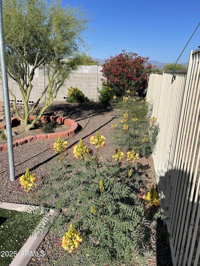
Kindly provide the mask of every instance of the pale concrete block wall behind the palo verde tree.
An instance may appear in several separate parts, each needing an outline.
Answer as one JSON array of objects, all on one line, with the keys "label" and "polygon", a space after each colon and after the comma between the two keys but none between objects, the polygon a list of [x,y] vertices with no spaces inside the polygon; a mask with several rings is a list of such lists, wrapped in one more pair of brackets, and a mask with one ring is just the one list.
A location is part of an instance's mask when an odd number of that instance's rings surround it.
[{"label": "pale concrete block wall behind the palo verde tree", "polygon": [[[57,97],[55,100],[57,101],[65,101],[68,96],[68,88],[71,86],[78,87],[78,89],[82,90],[85,96],[89,98],[92,102],[98,101],[98,91],[97,87],[101,89],[102,85],[102,66],[98,65],[82,65],[80,68],[70,75],[70,77],[64,82],[63,86],[59,89]],[[47,78],[44,75],[44,70],[37,70],[34,78],[32,80],[33,88],[31,90],[31,94],[29,97],[29,104],[35,103],[37,99],[40,97],[45,85],[47,85]],[[22,104],[22,95],[19,90],[17,82],[8,78],[8,87],[16,96],[17,104]],[[45,101],[47,97],[44,95],[41,99]],[[9,95],[10,102],[13,102],[13,98]],[[0,85],[0,101],[3,101],[3,91],[2,85]]]}]

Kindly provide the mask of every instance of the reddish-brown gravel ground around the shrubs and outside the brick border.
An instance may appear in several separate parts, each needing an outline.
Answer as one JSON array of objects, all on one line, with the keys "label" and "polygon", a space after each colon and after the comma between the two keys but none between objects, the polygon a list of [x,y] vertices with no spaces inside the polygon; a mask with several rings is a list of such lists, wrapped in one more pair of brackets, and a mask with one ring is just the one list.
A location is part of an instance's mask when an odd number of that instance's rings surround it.
[{"label": "reddish-brown gravel ground around the shrubs and outside the brick border", "polygon": [[[101,110],[99,112],[94,112],[97,110]],[[91,118],[91,114],[93,116]],[[98,130],[100,135],[105,136],[106,138],[106,149],[104,149],[103,157],[110,158],[115,152],[115,147],[110,145],[112,142],[111,136],[109,136],[109,131],[111,130],[111,125],[113,122],[116,122],[115,111],[108,110],[105,106],[100,105],[99,103],[84,103],[84,104],[69,104],[65,102],[54,102],[52,106],[47,109],[46,115],[58,115],[65,116],[75,120],[78,124],[80,131],[76,136],[69,138],[68,148],[72,148],[80,138],[83,139],[84,142],[89,141],[89,135],[96,133]],[[91,119],[90,119],[91,118]],[[87,125],[86,125],[87,124]],[[86,125],[86,127],[85,127]],[[84,128],[85,127],[85,128]],[[52,147],[55,139],[50,140],[38,140],[32,143],[26,143],[22,146],[17,146],[13,149],[14,152],[14,163],[15,165],[26,160],[33,155],[42,152],[43,150]],[[15,167],[15,175],[16,177],[22,175],[26,168],[28,167],[31,172],[34,172],[38,179],[43,179],[45,176],[48,176],[47,165],[53,163],[53,160],[58,157],[55,155],[52,149],[47,150],[46,152],[42,152],[41,154],[33,157],[27,162],[21,163],[19,166]],[[153,169],[153,161],[152,158],[142,158],[141,159],[142,166],[140,167],[139,172],[144,177],[145,184],[148,188],[151,185],[155,184],[155,173]],[[45,167],[46,166],[46,167]],[[0,169],[3,171],[4,169],[8,169],[8,151],[0,152]],[[0,171],[0,172],[1,172]],[[24,203],[28,204],[28,200],[24,199],[25,193],[19,186],[19,181],[10,181],[9,171],[5,171],[0,174],[0,201],[6,202],[15,202],[15,203]],[[40,186],[40,182],[38,182],[38,186]],[[36,203],[37,204],[37,203]],[[61,253],[52,254],[49,246],[56,245],[57,240],[54,241],[51,238],[50,233],[48,233],[45,240],[42,242],[38,251],[43,250],[45,252],[45,256],[35,257],[29,263],[31,266],[43,266],[43,265],[56,265],[53,260],[56,257],[62,255],[63,250],[61,249]],[[165,240],[156,241],[152,239],[153,245],[153,254],[149,254],[146,257],[147,265],[159,265],[159,266],[171,266],[170,260],[170,250]],[[140,265],[140,264],[135,264]],[[71,265],[68,265],[71,266]]]}]

